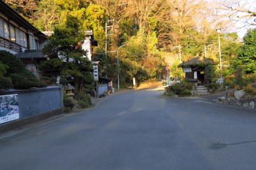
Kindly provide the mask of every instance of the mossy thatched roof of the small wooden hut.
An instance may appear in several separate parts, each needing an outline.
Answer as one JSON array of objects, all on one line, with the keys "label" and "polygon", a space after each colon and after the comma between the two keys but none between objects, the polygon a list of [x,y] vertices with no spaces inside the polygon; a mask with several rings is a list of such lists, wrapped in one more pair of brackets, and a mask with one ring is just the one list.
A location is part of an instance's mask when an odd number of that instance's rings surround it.
[{"label": "mossy thatched roof of the small wooden hut", "polygon": [[216,64],[212,59],[205,59],[203,57],[195,57],[193,59],[190,59],[186,62],[182,62],[181,64],[179,64],[178,67],[183,67],[183,66],[202,66],[202,67],[206,67],[209,65],[213,65]]}]

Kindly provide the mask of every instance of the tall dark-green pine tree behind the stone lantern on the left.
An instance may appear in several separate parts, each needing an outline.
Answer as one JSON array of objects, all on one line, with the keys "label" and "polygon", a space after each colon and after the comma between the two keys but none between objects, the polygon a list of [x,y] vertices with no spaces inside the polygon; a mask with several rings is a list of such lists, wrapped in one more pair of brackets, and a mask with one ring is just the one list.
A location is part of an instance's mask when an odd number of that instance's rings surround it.
[{"label": "tall dark-green pine tree behind the stone lantern on the left", "polygon": [[[60,69],[63,76],[72,75],[75,93],[79,90],[80,80],[93,81],[92,62],[83,57],[87,52],[79,45],[79,42],[83,44],[84,39],[81,22],[76,17],[67,15],[67,21],[54,27],[54,34],[48,38],[42,49],[43,53],[49,55],[50,60],[43,61],[41,68],[53,66]],[[58,57],[58,53],[61,53],[61,57]]]}]

